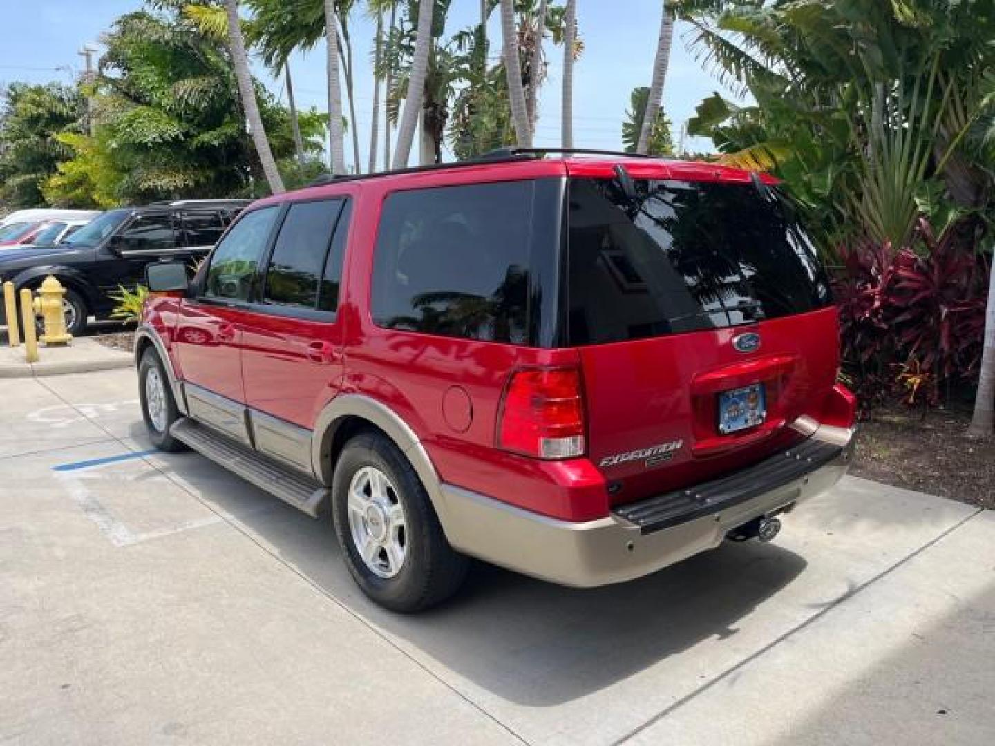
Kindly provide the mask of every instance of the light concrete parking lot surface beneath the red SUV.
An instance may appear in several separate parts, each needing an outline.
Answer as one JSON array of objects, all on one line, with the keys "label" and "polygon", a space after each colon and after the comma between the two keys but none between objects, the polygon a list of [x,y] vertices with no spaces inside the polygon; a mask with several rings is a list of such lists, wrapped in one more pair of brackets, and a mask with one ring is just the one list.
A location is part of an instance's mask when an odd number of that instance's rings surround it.
[{"label": "light concrete parking lot surface beneath the red SUV", "polygon": [[654,576],[414,617],[331,526],[152,452],[130,370],[0,389],[0,741],[990,744],[995,514],[857,478]]}]

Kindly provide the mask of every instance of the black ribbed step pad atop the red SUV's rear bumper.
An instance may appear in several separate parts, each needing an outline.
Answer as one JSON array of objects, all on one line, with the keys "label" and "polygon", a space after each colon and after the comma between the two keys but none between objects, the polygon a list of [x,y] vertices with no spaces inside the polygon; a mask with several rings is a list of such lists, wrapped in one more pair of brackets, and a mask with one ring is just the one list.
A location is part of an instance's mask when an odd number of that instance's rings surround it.
[{"label": "black ribbed step pad atop the red SUV's rear bumper", "polygon": [[809,439],[764,461],[693,487],[620,505],[612,512],[647,534],[724,510],[805,477],[843,456],[845,448]]}]

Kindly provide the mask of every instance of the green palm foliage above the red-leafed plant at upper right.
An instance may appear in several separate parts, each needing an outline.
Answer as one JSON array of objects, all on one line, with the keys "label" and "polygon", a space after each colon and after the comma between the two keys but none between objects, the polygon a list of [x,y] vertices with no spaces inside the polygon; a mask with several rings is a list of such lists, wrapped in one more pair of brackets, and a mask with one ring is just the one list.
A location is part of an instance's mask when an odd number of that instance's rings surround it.
[{"label": "green palm foliage above the red-leafed plant at upper right", "polygon": [[756,103],[717,94],[692,134],[782,176],[824,249],[908,241],[925,191],[991,206],[992,0],[687,0],[699,59]]}]

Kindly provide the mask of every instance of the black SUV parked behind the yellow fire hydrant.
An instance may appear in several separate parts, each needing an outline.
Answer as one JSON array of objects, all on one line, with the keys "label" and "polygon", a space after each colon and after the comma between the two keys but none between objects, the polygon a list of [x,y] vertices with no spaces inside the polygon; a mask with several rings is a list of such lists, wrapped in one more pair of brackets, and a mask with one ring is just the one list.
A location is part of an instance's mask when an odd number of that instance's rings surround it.
[{"label": "black SUV parked behind the yellow fire hydrant", "polygon": [[151,262],[199,261],[249,203],[178,200],[110,210],[58,246],[0,249],[0,282],[36,288],[54,275],[66,288],[66,327],[79,334],[90,316],[106,318],[113,309],[108,292],[134,289]]}]

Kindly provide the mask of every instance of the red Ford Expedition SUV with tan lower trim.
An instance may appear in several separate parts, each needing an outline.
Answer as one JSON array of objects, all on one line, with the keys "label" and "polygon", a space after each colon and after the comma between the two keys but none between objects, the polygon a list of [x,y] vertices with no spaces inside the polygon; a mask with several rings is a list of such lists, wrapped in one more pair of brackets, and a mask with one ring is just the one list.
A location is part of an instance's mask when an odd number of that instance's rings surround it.
[{"label": "red Ford Expedition SUV with tan lower trim", "polygon": [[829,282],[773,180],[557,151],[259,201],[150,265],[152,441],[311,516],[398,611],[471,557],[570,586],[769,539],[848,466]]}]

